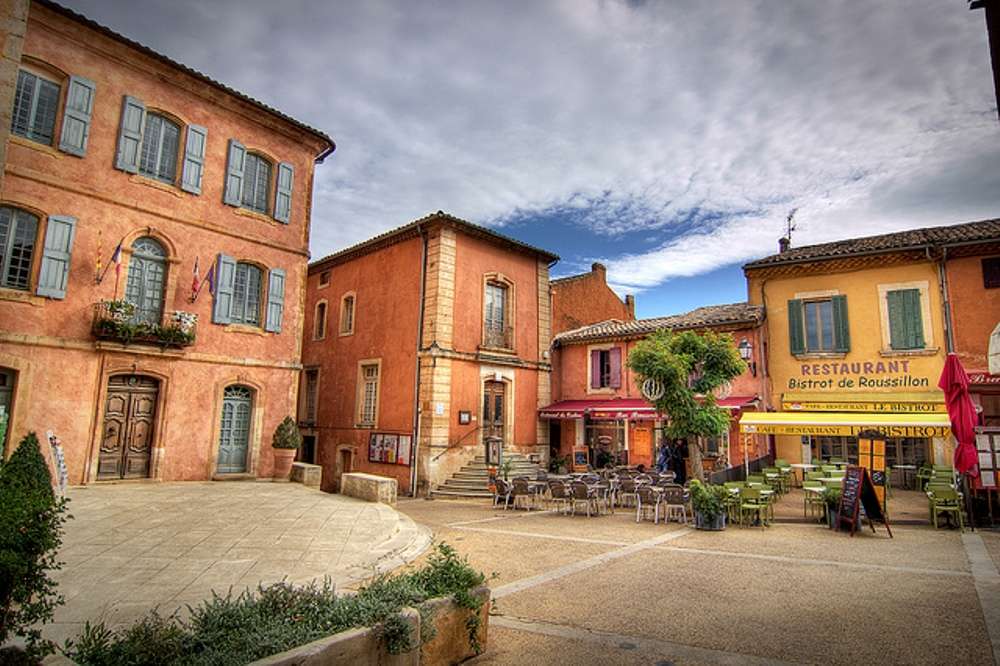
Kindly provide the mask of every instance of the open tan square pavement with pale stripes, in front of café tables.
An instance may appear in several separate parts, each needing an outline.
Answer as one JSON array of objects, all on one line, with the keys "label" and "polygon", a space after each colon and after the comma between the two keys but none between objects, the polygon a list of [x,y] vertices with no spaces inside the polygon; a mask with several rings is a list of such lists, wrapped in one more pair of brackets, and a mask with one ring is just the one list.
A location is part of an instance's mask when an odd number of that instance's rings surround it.
[{"label": "open tan square pavement with pale stripes, in front of caf\u00e9 tables", "polygon": [[489,646],[471,664],[995,663],[994,532],[398,508],[496,574]]}]

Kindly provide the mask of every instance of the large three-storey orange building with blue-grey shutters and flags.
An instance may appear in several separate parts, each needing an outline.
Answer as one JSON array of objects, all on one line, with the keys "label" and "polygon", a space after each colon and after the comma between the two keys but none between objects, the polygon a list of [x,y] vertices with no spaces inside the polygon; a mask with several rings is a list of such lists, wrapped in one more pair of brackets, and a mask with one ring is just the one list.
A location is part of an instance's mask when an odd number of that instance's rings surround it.
[{"label": "large three-storey orange building with blue-grey shutters and flags", "polygon": [[[58,5],[26,7],[0,67],[5,451],[51,430],[71,483],[270,475],[333,142]],[[192,302],[196,265],[213,279]]]}]

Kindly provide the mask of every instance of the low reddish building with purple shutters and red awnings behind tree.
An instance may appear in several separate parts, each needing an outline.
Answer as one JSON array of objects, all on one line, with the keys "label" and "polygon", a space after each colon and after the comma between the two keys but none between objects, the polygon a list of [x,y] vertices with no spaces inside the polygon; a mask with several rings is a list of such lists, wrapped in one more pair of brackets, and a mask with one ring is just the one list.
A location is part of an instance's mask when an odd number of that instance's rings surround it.
[{"label": "low reddish building with purple shutters and red awnings behind tree", "polygon": [[574,451],[586,452],[587,463],[594,467],[603,462],[598,460],[602,451],[630,465],[656,462],[663,418],[637,385],[627,360],[640,340],[661,329],[729,333],[749,356],[747,372],[717,396],[718,404],[732,414],[732,427],[718,440],[703,443],[706,467],[741,465],[744,451],[750,460],[766,455],[766,438],[743,442],[738,437],[740,414],[765,408],[763,319],[763,307],[734,303],[668,317],[604,321],[555,336],[553,385],[559,387],[558,399],[541,411],[551,424],[553,455],[573,460]]}]

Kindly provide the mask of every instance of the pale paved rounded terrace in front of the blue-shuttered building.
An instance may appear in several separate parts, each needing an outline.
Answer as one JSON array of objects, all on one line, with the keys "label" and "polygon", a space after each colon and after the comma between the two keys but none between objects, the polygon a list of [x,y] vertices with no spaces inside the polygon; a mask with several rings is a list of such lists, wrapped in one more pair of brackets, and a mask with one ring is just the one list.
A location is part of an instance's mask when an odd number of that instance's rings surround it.
[{"label": "pale paved rounded terrace in front of the blue-shuttered building", "polygon": [[123,483],[70,489],[57,573],[66,604],[45,633],[131,622],[258,583],[329,576],[352,587],[430,545],[391,507],[294,483]]}]

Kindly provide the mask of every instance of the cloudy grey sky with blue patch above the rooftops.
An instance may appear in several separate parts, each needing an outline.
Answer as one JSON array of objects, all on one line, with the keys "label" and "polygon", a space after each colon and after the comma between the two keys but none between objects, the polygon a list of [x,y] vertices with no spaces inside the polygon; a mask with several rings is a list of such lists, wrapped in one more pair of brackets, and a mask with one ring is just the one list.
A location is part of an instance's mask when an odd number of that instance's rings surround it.
[{"label": "cloudy grey sky with blue patch above the rooftops", "polygon": [[326,130],[318,257],[445,210],[608,266],[640,316],[804,245],[1000,216],[966,0],[64,0]]}]

